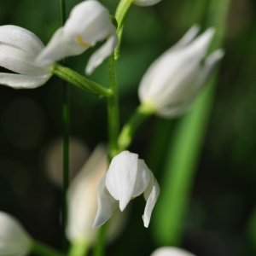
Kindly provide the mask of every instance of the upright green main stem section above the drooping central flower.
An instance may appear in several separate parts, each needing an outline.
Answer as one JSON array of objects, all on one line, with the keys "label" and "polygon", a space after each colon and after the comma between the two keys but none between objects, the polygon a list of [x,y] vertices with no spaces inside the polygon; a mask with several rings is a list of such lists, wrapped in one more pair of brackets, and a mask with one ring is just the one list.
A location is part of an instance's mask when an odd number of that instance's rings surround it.
[{"label": "upright green main stem section above the drooping central flower", "polygon": [[112,159],[117,154],[119,135],[119,95],[113,55],[109,57],[109,83],[113,94],[108,97],[108,156]]}]

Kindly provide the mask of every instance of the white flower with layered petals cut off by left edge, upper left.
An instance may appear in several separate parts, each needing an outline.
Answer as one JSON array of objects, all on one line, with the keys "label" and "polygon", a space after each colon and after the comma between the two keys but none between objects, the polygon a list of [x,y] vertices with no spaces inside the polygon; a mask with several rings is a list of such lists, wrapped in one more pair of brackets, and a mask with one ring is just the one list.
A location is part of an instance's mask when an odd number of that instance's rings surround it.
[{"label": "white flower with layered petals cut off by left edge, upper left", "polygon": [[0,73],[0,84],[15,89],[35,88],[51,76],[50,67],[36,63],[44,44],[20,26],[0,26],[0,66],[14,73]]}]

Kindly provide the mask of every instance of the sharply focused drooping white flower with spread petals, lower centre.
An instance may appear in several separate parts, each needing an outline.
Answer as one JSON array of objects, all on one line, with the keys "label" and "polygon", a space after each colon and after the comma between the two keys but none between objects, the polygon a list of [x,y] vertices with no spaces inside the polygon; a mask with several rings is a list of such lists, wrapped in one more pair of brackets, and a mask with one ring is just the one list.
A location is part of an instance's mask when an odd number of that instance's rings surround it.
[{"label": "sharply focused drooping white flower with spread petals, lower centre", "polygon": [[108,221],[117,207],[121,212],[132,198],[144,194],[147,201],[143,214],[144,226],[148,227],[155,202],[160,194],[159,184],[145,162],[137,154],[123,151],[116,155],[98,188],[98,209],[94,221],[97,228]]}]

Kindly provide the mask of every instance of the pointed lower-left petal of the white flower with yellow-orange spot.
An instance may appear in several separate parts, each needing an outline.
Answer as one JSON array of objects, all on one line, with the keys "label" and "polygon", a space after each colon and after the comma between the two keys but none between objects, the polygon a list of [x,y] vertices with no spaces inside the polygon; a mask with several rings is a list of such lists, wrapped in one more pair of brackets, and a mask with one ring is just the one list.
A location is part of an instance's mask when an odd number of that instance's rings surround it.
[{"label": "pointed lower-left petal of the white flower with yellow-orange spot", "polygon": [[37,62],[41,65],[50,65],[67,56],[80,55],[88,48],[89,47],[84,48],[77,44],[74,38],[68,38],[61,27],[55,32],[49,44],[47,44],[40,55],[38,55]]}]

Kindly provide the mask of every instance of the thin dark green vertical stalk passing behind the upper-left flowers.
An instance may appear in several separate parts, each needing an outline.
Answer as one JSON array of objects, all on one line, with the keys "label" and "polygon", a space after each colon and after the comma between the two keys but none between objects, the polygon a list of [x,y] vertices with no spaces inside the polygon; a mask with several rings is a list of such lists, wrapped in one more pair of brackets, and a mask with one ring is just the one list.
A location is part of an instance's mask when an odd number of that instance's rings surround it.
[{"label": "thin dark green vertical stalk passing behind the upper-left flowers", "polygon": [[[61,25],[66,22],[66,0],[61,0]],[[65,61],[63,61],[65,63]],[[62,230],[63,241],[66,246],[65,229],[67,225],[67,189],[69,183],[69,86],[63,81],[62,85],[62,124],[63,124],[63,149],[62,149]]]}]

